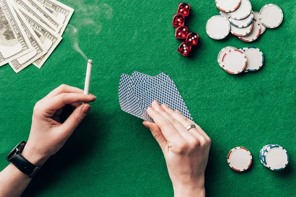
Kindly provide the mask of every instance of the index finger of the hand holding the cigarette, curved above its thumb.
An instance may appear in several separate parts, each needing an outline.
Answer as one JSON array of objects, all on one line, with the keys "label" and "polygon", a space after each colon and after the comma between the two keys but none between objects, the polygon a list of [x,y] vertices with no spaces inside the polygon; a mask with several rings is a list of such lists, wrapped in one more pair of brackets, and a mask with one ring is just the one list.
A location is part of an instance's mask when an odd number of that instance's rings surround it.
[{"label": "index finger of the hand holding the cigarette, curved above its thumb", "polygon": [[57,95],[48,101],[46,101],[45,108],[50,111],[56,111],[62,108],[66,104],[76,103],[76,102],[93,102],[96,97],[92,95],[84,95],[77,93],[62,93]]}]

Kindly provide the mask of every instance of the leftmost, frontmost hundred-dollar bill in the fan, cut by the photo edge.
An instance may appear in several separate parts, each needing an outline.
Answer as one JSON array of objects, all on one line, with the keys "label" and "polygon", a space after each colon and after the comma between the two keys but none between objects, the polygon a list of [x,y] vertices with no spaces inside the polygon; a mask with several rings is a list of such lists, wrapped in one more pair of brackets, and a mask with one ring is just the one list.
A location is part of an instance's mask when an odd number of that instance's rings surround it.
[{"label": "leftmost, frontmost hundred-dollar bill in the fan, cut by the photo edge", "polygon": [[0,66],[32,50],[10,1],[0,0]]}]

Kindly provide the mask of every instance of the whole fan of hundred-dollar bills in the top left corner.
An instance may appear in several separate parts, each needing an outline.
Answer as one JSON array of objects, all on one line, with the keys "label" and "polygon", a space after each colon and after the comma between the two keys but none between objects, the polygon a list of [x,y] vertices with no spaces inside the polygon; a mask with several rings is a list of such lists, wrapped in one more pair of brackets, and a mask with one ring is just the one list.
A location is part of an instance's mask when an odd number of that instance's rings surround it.
[{"label": "whole fan of hundred-dollar bills in the top left corner", "polygon": [[40,68],[62,40],[74,9],[57,0],[0,0],[0,66]]}]

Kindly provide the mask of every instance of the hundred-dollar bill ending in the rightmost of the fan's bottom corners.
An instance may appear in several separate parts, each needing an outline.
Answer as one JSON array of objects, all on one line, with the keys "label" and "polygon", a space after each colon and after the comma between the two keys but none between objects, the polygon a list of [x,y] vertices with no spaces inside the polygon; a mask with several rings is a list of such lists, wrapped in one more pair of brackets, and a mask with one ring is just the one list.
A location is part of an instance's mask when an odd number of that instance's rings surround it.
[{"label": "hundred-dollar bill ending in the rightmost of the fan's bottom corners", "polygon": [[62,40],[62,36],[52,31],[43,23],[40,23],[40,21],[36,17],[34,17],[23,8],[19,7],[19,9],[47,50],[47,53],[44,56],[40,57],[37,61],[33,63],[35,66],[40,68],[48,59],[53,50],[57,47],[57,45],[60,43],[60,41]]}]

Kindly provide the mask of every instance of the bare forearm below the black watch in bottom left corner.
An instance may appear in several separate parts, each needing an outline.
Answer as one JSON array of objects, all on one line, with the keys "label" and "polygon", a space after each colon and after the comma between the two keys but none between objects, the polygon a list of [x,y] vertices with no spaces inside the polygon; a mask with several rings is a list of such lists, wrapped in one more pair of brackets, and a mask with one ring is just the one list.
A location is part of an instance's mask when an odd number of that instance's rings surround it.
[{"label": "bare forearm below the black watch in bottom left corner", "polygon": [[9,164],[0,172],[0,197],[19,197],[30,182],[28,175]]}]

